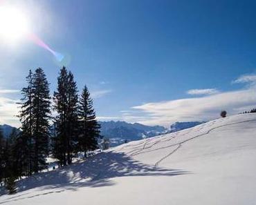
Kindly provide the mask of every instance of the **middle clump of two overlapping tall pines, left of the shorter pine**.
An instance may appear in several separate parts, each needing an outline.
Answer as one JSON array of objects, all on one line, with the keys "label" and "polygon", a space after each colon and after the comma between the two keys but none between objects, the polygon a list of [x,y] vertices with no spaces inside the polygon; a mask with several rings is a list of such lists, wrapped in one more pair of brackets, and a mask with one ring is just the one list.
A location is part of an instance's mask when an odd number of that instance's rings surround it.
[{"label": "middle clump of two overlapping tall pines, left of the shorter pine", "polygon": [[61,165],[71,164],[77,144],[77,86],[73,74],[65,67],[60,70],[57,79],[57,92],[54,92],[55,125],[57,134],[53,138],[53,154]]}]

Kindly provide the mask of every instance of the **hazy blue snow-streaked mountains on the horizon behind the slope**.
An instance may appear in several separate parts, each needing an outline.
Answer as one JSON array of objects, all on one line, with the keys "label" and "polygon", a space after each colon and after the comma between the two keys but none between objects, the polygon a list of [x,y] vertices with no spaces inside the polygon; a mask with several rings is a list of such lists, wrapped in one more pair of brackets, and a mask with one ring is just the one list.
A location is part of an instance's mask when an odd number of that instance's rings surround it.
[{"label": "hazy blue snow-streaked mountains on the horizon behind the slope", "polygon": [[[111,143],[110,146],[118,146],[128,141],[174,133],[179,130],[197,126],[204,123],[204,121],[177,121],[172,124],[170,128],[165,128],[163,126],[145,126],[138,123],[131,124],[125,121],[100,121],[99,123],[101,126],[101,135],[109,139]],[[6,124],[2,126],[0,125],[0,129],[3,131],[4,137],[8,137],[10,135],[12,128],[14,127]]]}]

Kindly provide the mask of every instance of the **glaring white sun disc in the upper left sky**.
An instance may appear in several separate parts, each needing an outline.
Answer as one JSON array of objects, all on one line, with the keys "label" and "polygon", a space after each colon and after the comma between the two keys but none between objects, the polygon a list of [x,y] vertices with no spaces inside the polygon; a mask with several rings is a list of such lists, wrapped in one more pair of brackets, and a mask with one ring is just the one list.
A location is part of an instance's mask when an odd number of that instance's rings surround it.
[{"label": "glaring white sun disc in the upper left sky", "polygon": [[0,37],[16,41],[28,35],[29,26],[26,14],[18,8],[0,6]]}]

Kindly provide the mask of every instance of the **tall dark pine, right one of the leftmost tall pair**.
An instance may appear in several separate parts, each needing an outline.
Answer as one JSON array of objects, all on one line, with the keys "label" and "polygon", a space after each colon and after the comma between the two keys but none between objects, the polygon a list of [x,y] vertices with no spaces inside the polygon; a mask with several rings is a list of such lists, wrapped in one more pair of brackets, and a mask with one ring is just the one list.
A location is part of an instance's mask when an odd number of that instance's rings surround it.
[{"label": "tall dark pine, right one of the leftmost tall pair", "polygon": [[33,171],[37,173],[46,167],[45,157],[48,155],[49,119],[51,118],[49,84],[42,68],[35,70],[32,92],[33,139],[35,143]]}]

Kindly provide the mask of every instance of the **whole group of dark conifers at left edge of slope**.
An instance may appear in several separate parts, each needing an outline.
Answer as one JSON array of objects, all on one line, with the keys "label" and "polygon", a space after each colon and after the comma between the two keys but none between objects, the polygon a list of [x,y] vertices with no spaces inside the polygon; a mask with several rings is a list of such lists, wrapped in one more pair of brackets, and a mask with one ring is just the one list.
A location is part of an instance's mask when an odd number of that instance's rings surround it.
[{"label": "whole group of dark conifers at left edge of slope", "polygon": [[[53,104],[42,68],[29,70],[26,84],[19,103],[21,127],[7,138],[0,130],[0,183],[10,194],[16,191],[15,180],[46,169],[49,155],[66,166],[77,153],[86,157],[88,151],[95,150],[100,137],[89,90],[84,86],[79,96],[71,71],[60,70]],[[57,114],[52,116],[51,110]]]}]

